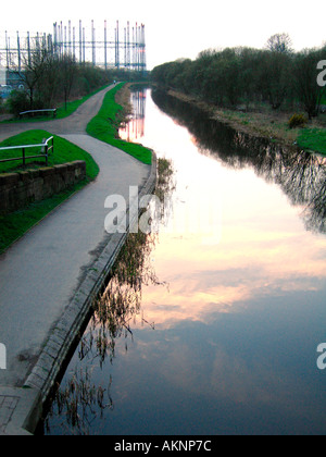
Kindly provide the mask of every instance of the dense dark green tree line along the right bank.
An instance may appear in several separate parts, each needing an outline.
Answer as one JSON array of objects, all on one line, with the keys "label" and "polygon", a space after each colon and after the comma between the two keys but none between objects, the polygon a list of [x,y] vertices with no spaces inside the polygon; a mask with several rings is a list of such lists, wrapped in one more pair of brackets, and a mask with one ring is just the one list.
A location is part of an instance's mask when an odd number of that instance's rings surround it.
[{"label": "dense dark green tree line along the right bank", "polygon": [[[165,88],[195,95],[221,107],[268,103],[273,110],[302,109],[312,119],[325,100],[317,84],[326,46],[294,52],[287,34],[272,36],[264,49],[226,48],[201,52],[153,69],[151,78]],[[326,100],[324,101],[326,103]]]}]

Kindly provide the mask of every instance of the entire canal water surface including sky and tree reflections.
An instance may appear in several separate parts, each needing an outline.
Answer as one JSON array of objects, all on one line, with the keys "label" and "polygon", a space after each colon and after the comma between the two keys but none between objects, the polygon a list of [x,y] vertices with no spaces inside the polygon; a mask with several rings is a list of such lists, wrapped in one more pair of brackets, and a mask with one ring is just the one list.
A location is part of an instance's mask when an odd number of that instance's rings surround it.
[{"label": "entire canal water surface including sky and tree reflections", "polygon": [[137,281],[112,280],[43,432],[325,434],[325,160],[131,100],[121,136],[174,171],[160,233],[127,247]]}]

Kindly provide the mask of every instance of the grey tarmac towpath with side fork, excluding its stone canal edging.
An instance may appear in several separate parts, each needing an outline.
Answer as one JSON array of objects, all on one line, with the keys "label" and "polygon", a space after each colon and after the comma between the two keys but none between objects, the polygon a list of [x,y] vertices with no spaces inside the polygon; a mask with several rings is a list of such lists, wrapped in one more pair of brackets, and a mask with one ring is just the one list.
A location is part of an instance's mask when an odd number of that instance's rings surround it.
[{"label": "grey tarmac towpath with side fork, excluding its stone canal edging", "polygon": [[[128,201],[129,186],[141,187],[149,178],[150,166],[85,134],[104,94],[64,122],[33,123],[33,128],[46,128],[90,152],[100,174],[0,256],[0,343],[7,348],[0,387],[24,385],[55,322],[108,242],[105,198],[117,194]],[[23,126],[30,128],[29,124],[12,127],[17,132]],[[0,125],[0,139],[12,134],[13,129],[10,134],[7,125]],[[0,388],[0,433],[7,427],[1,417],[9,420],[16,398],[3,394],[1,399]],[[7,405],[2,416],[1,405]]]}]

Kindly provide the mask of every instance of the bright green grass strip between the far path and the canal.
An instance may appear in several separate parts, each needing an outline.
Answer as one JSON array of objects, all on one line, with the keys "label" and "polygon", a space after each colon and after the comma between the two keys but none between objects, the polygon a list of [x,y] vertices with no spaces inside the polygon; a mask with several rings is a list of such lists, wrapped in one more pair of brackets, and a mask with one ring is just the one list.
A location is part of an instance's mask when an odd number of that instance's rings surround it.
[{"label": "bright green grass strip between the far path and the canal", "polygon": [[89,122],[87,133],[101,141],[122,149],[140,162],[151,164],[152,153],[149,149],[138,144],[124,141],[117,137],[117,129],[124,119],[124,108],[116,102],[115,96],[123,86],[123,84],[118,84],[106,94],[98,115]]}]

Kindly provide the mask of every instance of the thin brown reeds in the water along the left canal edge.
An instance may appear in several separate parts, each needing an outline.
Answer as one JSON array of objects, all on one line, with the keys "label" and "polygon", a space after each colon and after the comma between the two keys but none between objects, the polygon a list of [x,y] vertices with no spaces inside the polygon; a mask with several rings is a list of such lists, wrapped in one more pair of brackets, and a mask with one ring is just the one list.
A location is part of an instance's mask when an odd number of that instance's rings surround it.
[{"label": "thin brown reeds in the water along the left canal edge", "polygon": [[[173,180],[171,164],[166,161],[163,163],[163,169],[159,168],[158,195],[162,189],[173,192],[170,184]],[[154,323],[143,317],[141,293],[143,286],[166,285],[159,281],[151,261],[156,240],[154,233],[139,231],[128,235],[105,289],[93,301],[90,322],[76,351],[79,368],[67,373],[63,385],[58,386],[54,393],[45,421],[48,433],[51,432],[51,417],[55,416],[60,418],[59,427],[64,434],[89,434],[96,427],[97,418],[102,418],[105,409],[114,409],[112,376],[106,381],[106,386],[98,385],[92,381],[92,371],[98,365],[102,370],[106,361],[113,362],[117,338],[124,338],[125,350],[128,349],[128,338],[133,339],[131,322],[136,323],[137,318],[141,325],[154,330]]]}]

